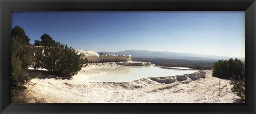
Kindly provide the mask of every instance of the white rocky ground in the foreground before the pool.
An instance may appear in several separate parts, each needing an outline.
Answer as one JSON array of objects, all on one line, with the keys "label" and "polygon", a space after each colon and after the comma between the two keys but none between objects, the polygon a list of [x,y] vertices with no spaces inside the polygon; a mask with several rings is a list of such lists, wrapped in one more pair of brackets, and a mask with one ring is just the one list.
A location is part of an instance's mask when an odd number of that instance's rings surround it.
[{"label": "white rocky ground in the foreground before the pool", "polygon": [[[91,64],[88,68],[94,66]],[[47,103],[232,103],[238,99],[230,90],[229,80],[212,77],[210,70],[205,72],[205,78],[190,83],[168,84],[151,78],[123,83],[81,82],[79,73],[70,80],[34,78],[26,84],[26,94]]]}]

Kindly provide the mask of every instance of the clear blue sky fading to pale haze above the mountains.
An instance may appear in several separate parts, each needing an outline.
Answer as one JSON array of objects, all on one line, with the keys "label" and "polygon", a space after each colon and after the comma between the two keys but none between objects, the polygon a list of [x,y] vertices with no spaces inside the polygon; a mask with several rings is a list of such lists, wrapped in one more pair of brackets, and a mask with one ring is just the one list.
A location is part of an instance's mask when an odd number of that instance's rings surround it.
[{"label": "clear blue sky fading to pale haze above the mountains", "polygon": [[245,13],[192,11],[12,12],[34,40],[47,33],[75,49],[151,50],[244,57]]}]

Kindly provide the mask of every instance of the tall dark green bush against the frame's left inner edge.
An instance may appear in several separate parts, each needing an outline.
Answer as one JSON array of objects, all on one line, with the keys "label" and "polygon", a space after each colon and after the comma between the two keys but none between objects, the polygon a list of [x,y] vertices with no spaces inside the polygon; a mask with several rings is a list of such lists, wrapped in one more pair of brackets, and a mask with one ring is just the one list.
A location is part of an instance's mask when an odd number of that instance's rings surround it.
[{"label": "tall dark green bush against the frame's left inner edge", "polygon": [[12,29],[11,36],[11,86],[18,87],[30,79],[25,72],[33,63],[34,49],[25,31],[19,26]]}]

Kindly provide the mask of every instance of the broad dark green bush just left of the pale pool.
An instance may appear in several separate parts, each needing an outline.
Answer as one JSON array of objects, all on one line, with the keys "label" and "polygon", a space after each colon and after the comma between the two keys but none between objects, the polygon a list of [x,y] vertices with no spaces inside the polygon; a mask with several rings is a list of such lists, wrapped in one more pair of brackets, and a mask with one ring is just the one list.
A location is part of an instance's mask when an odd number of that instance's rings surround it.
[{"label": "broad dark green bush just left of the pale pool", "polygon": [[86,59],[67,45],[54,42],[50,46],[37,47],[34,68],[45,68],[51,74],[70,78],[86,66]]}]

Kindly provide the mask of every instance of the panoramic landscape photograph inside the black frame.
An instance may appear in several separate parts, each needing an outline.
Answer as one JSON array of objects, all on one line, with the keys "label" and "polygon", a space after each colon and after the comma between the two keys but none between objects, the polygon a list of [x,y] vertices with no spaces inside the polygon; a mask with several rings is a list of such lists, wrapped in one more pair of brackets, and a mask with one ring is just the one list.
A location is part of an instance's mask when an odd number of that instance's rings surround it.
[{"label": "panoramic landscape photograph inside the black frame", "polygon": [[245,11],[12,11],[11,103],[246,103]]}]

